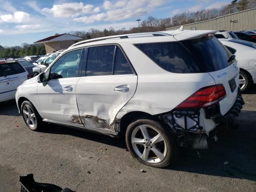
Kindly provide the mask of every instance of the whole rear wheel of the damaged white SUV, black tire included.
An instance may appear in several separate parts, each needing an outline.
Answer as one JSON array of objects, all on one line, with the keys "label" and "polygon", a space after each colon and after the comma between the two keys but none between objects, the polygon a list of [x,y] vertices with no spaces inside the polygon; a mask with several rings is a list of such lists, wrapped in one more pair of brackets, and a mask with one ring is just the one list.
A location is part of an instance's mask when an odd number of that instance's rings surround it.
[{"label": "whole rear wheel of the damaged white SUV, black tire included", "polygon": [[[142,130],[147,133],[143,134]],[[172,133],[160,122],[150,118],[142,117],[129,124],[126,145],[134,159],[156,168],[174,164],[178,156],[178,145]]]}]

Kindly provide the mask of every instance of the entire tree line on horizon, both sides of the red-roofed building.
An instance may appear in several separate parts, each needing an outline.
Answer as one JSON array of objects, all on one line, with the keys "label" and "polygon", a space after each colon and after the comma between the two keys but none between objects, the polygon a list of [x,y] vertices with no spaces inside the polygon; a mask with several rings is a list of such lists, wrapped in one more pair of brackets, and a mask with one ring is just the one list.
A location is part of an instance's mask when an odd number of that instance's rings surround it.
[{"label": "entire tree line on horizon, both sides of the red-roofed building", "polygon": [[[181,14],[176,14],[172,17],[167,18],[155,18],[148,17],[147,20],[142,20],[140,22],[139,27],[132,27],[130,29],[122,28],[119,30],[115,30],[110,27],[108,30],[98,30],[95,28],[91,28],[87,32],[82,31],[71,31],[68,34],[81,37],[83,40],[104,37],[104,36],[112,36],[112,35],[120,35],[120,34],[129,34],[129,33],[137,33],[137,32],[155,32],[155,31],[164,31],[166,28],[175,27],[185,24],[190,24],[194,22],[205,21],[209,19],[213,19],[219,16],[223,16],[226,14],[231,14],[235,12],[239,12],[242,10],[247,10],[250,8],[256,7],[256,0],[232,0],[230,4],[226,6],[222,6],[221,8],[213,8],[213,9],[204,9],[199,10],[197,12],[183,12]],[[222,29],[220,29],[222,30]],[[11,46],[11,47],[2,47],[0,46],[0,58],[19,58],[28,55],[40,55],[46,54],[45,48],[43,44],[22,44],[21,46]]]}]

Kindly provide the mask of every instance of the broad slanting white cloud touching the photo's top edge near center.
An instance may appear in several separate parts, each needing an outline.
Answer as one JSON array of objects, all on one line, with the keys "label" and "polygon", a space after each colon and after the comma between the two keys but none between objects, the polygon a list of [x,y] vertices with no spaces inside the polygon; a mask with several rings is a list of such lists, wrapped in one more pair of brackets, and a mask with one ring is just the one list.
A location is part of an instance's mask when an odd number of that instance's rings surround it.
[{"label": "broad slanting white cloud touching the photo's top edge near center", "polygon": [[105,1],[102,6],[106,12],[74,18],[73,20],[75,22],[84,22],[87,24],[96,21],[125,20],[145,15],[157,6],[161,6],[163,3],[163,0],[121,0],[113,5],[110,1]]}]

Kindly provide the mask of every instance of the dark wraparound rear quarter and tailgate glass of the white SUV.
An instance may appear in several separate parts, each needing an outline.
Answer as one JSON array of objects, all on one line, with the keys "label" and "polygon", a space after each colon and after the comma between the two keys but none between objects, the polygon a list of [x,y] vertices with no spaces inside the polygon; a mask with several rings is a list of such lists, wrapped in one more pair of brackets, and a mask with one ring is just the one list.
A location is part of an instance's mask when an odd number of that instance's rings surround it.
[{"label": "dark wraparound rear quarter and tailgate glass of the white SUV", "polygon": [[226,68],[232,54],[214,36],[136,44],[156,64],[173,73],[204,73]]}]

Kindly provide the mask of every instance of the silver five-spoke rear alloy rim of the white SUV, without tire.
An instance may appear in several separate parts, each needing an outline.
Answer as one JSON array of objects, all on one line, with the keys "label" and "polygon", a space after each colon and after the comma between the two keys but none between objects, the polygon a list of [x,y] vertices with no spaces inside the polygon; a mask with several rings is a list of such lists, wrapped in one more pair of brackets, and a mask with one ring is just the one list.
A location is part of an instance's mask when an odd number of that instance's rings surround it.
[{"label": "silver five-spoke rear alloy rim of the white SUV, without tire", "polygon": [[152,126],[137,126],[132,131],[131,142],[136,155],[148,163],[159,163],[166,157],[166,141]]}]

